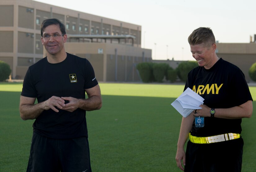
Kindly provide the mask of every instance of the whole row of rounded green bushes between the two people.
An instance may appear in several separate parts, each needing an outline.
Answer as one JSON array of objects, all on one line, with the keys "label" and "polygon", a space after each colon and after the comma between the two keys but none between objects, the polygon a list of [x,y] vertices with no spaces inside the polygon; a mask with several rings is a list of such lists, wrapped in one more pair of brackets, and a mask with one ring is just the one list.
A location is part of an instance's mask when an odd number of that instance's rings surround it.
[{"label": "whole row of rounded green bushes between the two people", "polygon": [[197,66],[196,61],[182,62],[176,69],[166,63],[145,62],[137,64],[136,68],[140,73],[142,82],[163,82],[164,77],[170,82],[175,82],[177,76],[181,81],[186,82],[187,74]]}]

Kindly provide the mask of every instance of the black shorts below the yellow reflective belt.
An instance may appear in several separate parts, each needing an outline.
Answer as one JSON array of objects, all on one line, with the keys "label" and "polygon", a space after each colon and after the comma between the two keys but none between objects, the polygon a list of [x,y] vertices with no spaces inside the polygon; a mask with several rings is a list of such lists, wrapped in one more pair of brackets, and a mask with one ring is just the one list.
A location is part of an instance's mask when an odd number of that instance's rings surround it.
[{"label": "black shorts below the yellow reflective belt", "polygon": [[240,172],[243,146],[242,138],[208,144],[188,141],[185,172]]}]

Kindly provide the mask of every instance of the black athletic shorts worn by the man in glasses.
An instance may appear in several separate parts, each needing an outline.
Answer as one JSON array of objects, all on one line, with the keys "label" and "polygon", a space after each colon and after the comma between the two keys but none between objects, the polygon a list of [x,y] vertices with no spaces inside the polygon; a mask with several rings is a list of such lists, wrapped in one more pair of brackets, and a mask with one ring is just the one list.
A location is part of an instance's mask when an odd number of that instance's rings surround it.
[{"label": "black athletic shorts worn by the man in glasses", "polygon": [[87,137],[51,139],[33,133],[27,172],[91,172]]}]

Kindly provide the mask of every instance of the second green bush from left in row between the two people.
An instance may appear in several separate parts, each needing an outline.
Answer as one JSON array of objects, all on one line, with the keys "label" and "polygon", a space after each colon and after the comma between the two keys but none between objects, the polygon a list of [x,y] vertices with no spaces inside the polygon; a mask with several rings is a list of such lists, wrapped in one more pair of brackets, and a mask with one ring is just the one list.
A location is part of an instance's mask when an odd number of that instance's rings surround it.
[{"label": "second green bush from left in row between the two people", "polygon": [[163,82],[164,76],[167,76],[169,65],[166,63],[155,63],[153,65],[153,75],[157,82]]}]

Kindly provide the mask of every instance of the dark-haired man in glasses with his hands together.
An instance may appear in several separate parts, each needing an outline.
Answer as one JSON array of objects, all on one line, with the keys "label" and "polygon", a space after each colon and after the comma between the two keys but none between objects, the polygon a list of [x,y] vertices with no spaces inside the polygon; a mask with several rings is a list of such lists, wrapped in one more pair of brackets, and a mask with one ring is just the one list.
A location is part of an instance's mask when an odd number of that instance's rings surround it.
[{"label": "dark-haired man in glasses with his hands together", "polygon": [[29,67],[20,96],[20,117],[35,119],[27,171],[92,171],[86,111],[102,104],[94,70],[65,52],[59,20],[44,20],[41,36],[47,57]]}]

